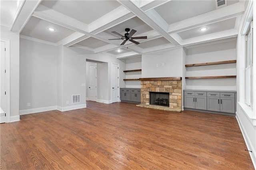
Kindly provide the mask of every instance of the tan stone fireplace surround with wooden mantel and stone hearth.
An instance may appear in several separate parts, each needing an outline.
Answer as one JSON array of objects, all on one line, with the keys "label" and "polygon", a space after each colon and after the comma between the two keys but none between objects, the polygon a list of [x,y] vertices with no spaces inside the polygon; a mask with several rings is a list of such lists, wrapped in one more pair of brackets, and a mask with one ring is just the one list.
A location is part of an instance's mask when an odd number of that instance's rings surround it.
[{"label": "tan stone fireplace surround with wooden mantel and stone hearth", "polygon": [[[139,107],[166,111],[182,111],[182,77],[140,78],[141,104]],[[150,105],[150,92],[170,94],[169,107]]]}]

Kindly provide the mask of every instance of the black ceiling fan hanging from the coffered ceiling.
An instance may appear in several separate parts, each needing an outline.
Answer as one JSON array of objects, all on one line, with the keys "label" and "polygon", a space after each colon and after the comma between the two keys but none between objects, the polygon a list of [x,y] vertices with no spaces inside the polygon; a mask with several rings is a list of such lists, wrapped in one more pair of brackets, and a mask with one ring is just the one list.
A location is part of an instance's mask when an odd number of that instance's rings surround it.
[{"label": "black ceiling fan hanging from the coffered ceiling", "polygon": [[135,44],[139,44],[139,42],[134,41],[134,39],[147,39],[147,36],[142,36],[142,37],[132,37],[133,34],[135,34],[137,31],[136,30],[132,30],[130,33],[128,33],[130,31],[130,28],[126,28],[125,31],[127,33],[124,34],[124,36],[122,34],[119,34],[118,32],[112,31],[112,33],[121,36],[122,38],[114,38],[114,39],[108,39],[108,40],[124,40],[121,45],[124,45],[127,41],[133,42]]}]

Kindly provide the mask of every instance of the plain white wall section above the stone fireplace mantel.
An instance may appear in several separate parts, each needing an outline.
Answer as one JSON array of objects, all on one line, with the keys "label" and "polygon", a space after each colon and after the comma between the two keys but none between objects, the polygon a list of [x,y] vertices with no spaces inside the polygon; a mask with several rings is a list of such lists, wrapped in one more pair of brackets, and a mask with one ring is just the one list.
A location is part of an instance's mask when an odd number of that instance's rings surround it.
[{"label": "plain white wall section above the stone fireplace mantel", "polygon": [[143,54],[142,78],[147,77],[182,77],[182,47]]}]

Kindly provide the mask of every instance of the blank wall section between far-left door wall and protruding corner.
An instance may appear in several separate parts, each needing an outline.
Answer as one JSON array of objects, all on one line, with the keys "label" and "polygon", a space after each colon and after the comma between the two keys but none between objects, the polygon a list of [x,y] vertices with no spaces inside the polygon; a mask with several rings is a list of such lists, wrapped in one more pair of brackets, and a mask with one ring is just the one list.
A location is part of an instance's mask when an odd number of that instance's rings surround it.
[{"label": "blank wall section between far-left door wall and protruding corner", "polygon": [[56,106],[57,59],[57,46],[20,38],[20,110]]}]

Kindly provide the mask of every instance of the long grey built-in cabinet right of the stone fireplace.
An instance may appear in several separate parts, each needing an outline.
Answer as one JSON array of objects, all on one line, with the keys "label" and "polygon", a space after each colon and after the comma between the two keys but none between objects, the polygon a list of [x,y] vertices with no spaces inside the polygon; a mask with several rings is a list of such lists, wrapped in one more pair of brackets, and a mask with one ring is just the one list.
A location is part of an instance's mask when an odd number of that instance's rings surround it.
[{"label": "long grey built-in cabinet right of the stone fireplace", "polygon": [[236,91],[184,90],[184,109],[235,113]]}]

